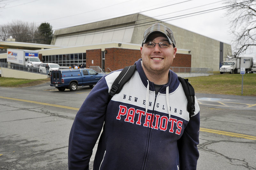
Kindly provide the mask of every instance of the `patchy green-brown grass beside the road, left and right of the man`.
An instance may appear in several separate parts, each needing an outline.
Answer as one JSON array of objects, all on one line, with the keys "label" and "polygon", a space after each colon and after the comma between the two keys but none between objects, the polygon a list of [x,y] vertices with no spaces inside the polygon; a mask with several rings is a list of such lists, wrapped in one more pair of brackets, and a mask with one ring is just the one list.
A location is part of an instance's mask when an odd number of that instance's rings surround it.
[{"label": "patchy green-brown grass beside the road, left and right of the man", "polygon": [[[241,95],[242,74],[220,74],[189,77],[188,81],[193,85],[196,93]],[[2,87],[27,87],[50,82],[48,79],[27,80],[0,77]],[[243,96],[256,97],[256,74],[244,74]]]}]

